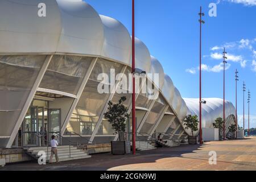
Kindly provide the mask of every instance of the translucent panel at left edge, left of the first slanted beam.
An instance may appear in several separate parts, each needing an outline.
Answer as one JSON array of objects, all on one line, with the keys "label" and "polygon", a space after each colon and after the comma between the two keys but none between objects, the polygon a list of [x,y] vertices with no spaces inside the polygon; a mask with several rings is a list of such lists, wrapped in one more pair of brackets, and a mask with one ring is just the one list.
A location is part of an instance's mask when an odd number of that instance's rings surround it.
[{"label": "translucent panel at left edge, left of the first slanted beam", "polygon": [[9,136],[46,55],[0,56],[0,136]]}]

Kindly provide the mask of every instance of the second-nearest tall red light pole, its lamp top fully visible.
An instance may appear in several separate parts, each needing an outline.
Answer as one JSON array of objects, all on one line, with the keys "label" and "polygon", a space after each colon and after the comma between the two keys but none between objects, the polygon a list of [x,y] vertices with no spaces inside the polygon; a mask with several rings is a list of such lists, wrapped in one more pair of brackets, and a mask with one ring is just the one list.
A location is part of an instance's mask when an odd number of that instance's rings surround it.
[{"label": "second-nearest tall red light pole, its lamp top fully visible", "polygon": [[201,93],[201,35],[202,35],[202,23],[205,23],[204,20],[202,20],[202,16],[204,16],[204,13],[202,13],[202,7],[200,6],[200,59],[199,59],[199,130],[200,130],[200,144],[203,143],[202,138],[202,93]]}]

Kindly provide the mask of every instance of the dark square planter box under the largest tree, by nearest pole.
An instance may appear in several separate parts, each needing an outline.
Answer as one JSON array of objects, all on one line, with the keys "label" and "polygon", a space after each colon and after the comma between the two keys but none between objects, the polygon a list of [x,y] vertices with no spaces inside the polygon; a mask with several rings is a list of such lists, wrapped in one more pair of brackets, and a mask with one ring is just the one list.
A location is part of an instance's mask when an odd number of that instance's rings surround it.
[{"label": "dark square planter box under the largest tree, by nearest pole", "polygon": [[111,153],[115,155],[130,154],[130,141],[112,141]]}]

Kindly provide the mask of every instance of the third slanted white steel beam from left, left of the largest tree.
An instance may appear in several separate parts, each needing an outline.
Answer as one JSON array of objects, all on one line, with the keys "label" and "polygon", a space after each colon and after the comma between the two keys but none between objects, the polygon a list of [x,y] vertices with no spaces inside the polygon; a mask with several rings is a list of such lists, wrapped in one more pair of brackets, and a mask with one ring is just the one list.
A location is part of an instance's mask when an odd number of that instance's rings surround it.
[{"label": "third slanted white steel beam from left, left of the largest tree", "polygon": [[110,90],[110,95],[109,95],[109,98],[108,100],[106,101],[106,104],[105,106],[103,107],[102,111],[101,111],[101,114],[100,114],[100,117],[98,118],[98,121],[97,121],[97,124],[93,130],[93,133],[90,137],[90,140],[89,140],[89,143],[92,143],[92,141],[94,140],[96,134],[98,133],[98,129],[100,128],[100,125],[101,125],[101,122],[102,122],[102,119],[104,118],[104,113],[106,112],[106,110],[108,109],[108,102],[112,100],[112,98],[114,97],[114,94],[115,94],[115,91],[117,90],[117,86],[119,85],[120,81],[121,81],[121,78],[123,76],[123,74],[125,73],[125,69],[127,68],[126,65],[123,66],[122,70],[121,70],[121,74],[119,75],[119,77],[117,78],[117,82],[115,83],[114,87],[113,87],[113,90]]}]

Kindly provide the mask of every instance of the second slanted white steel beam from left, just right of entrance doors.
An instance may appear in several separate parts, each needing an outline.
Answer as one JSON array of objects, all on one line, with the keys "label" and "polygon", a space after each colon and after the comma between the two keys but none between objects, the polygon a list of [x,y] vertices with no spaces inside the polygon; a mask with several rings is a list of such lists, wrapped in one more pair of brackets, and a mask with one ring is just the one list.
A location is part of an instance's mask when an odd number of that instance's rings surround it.
[{"label": "second slanted white steel beam from left, just right of entrance doors", "polygon": [[97,60],[98,60],[98,57],[94,58],[92,60],[92,63],[90,63],[90,65],[89,65],[88,71],[86,72],[86,74],[84,76],[84,79],[81,82],[80,88],[79,88],[79,90],[78,90],[78,92],[76,94],[76,98],[73,101],[73,104],[71,105],[71,108],[68,111],[67,117],[65,118],[65,121],[64,121],[63,125],[61,126],[61,135],[63,135],[64,132],[65,132],[65,129],[66,129],[67,125],[68,125],[68,122],[69,122],[69,120],[72,117],[73,110],[75,110],[75,108],[76,108],[76,106],[77,106],[77,104],[79,102],[79,99],[80,99],[80,97],[82,95],[82,92],[84,91],[85,85],[87,84],[87,82],[89,80],[90,74],[92,73],[93,68],[94,68]]}]

